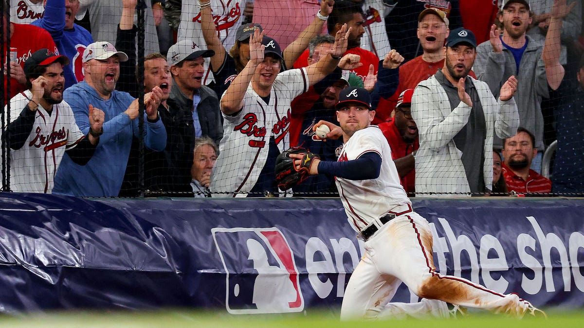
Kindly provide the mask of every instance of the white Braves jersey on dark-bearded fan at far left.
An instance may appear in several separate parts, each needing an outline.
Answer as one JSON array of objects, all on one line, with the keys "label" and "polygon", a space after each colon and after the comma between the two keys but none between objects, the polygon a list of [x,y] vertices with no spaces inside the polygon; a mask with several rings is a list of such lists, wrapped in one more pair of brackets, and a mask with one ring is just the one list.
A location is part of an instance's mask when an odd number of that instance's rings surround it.
[{"label": "white Braves jersey on dark-bearded fan at far left", "polygon": [[[10,120],[15,121],[29,103],[32,93],[21,92],[10,101]],[[33,130],[25,144],[11,149],[10,179],[12,191],[51,193],[55,172],[65,150],[74,148],[85,135],[75,123],[71,107],[65,101],[53,105],[51,115],[39,106]]]}]

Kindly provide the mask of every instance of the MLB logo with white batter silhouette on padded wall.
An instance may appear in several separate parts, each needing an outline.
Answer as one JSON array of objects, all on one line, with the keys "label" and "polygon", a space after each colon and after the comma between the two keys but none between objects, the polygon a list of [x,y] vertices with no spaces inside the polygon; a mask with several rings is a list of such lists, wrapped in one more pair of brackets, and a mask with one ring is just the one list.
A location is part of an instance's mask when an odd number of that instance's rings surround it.
[{"label": "MLB logo with white batter silhouette on padded wall", "polygon": [[231,314],[304,310],[294,253],[277,228],[213,228]]}]

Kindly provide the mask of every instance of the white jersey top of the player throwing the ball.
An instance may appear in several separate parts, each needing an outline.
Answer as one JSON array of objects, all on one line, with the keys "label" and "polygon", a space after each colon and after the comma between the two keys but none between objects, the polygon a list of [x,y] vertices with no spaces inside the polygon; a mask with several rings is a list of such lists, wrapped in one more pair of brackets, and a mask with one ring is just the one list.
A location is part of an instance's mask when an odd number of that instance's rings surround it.
[{"label": "white jersey top of the player throwing the ball", "polygon": [[374,219],[382,217],[395,205],[411,204],[399,182],[390,145],[377,125],[355,132],[343,145],[338,161],[357,159],[367,152],[376,152],[381,156],[379,177],[370,180],[336,178],[340,200],[351,226],[357,232]]}]

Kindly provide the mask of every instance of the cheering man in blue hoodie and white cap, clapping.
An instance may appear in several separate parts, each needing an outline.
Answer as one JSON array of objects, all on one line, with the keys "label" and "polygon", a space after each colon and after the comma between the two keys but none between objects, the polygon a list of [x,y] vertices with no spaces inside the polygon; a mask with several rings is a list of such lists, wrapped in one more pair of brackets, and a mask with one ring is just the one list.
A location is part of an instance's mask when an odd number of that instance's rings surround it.
[{"label": "cheering man in blue hoodie and white cap, clapping", "polygon": [[[115,90],[120,77],[120,61],[128,56],[108,42],[95,42],[86,48],[83,63],[85,80],[65,90],[82,132],[89,131],[88,113],[96,107],[105,113],[103,135],[93,158],[85,166],[65,155],[55,176],[53,193],[70,196],[116,197],[126,171],[132,135],[138,134],[138,100]],[[144,95],[144,144],[154,151],[166,146],[166,130],[158,117],[162,90],[156,86]]]}]

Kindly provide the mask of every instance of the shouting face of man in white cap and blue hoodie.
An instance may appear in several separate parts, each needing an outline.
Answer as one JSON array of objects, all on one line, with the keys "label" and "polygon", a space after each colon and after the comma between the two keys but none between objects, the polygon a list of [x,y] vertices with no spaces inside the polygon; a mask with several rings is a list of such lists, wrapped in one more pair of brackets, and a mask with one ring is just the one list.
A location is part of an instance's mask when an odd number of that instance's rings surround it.
[{"label": "shouting face of man in white cap and blue hoodie", "polygon": [[84,65],[93,87],[102,95],[109,96],[116,89],[120,78],[120,58],[114,55],[105,60],[92,59]]}]

